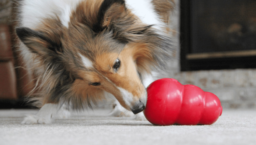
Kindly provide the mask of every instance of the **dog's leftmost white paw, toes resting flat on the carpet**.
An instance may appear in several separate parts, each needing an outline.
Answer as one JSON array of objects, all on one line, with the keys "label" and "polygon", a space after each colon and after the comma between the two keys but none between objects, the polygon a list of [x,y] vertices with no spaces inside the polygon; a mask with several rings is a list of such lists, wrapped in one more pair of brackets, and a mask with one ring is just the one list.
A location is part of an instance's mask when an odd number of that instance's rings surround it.
[{"label": "dog's leftmost white paw, toes resting flat on the carpet", "polygon": [[51,120],[37,115],[27,115],[21,124],[50,124]]}]

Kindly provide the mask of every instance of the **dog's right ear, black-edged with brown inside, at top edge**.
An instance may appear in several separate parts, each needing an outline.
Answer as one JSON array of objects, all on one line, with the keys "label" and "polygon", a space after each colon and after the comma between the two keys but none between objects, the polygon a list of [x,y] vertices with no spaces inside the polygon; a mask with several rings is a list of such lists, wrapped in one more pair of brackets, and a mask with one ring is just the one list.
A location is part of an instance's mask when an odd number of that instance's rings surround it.
[{"label": "dog's right ear, black-edged with brown inside, at top edge", "polygon": [[99,8],[97,15],[97,22],[94,24],[92,30],[100,32],[110,23],[116,19],[120,19],[125,15],[125,1],[124,0],[104,0]]}]

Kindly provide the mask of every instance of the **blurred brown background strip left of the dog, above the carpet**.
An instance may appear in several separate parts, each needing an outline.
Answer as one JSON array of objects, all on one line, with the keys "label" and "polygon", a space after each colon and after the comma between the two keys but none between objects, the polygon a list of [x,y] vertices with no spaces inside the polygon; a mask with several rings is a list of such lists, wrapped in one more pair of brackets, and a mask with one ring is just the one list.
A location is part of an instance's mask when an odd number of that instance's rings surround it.
[{"label": "blurred brown background strip left of the dog, above the carpet", "polygon": [[0,0],[0,108],[28,108],[24,96],[32,89],[32,76],[16,51],[14,0]]}]

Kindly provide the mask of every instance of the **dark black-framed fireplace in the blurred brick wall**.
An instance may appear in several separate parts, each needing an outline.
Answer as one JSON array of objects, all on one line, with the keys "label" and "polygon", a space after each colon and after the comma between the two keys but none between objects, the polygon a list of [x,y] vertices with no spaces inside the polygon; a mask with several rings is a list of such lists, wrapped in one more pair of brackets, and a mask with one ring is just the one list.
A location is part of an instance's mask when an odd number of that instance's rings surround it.
[{"label": "dark black-framed fireplace in the blurred brick wall", "polygon": [[256,68],[256,0],[181,0],[181,71]]}]

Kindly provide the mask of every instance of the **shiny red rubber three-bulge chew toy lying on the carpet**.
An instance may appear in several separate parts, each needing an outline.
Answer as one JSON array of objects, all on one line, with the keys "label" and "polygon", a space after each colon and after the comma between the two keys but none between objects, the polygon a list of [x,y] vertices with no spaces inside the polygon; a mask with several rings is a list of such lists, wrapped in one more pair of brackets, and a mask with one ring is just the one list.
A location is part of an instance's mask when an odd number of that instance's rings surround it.
[{"label": "shiny red rubber three-bulge chew toy lying on the carpet", "polygon": [[147,88],[146,119],[154,125],[210,125],[222,114],[219,98],[195,85],[159,79]]}]

